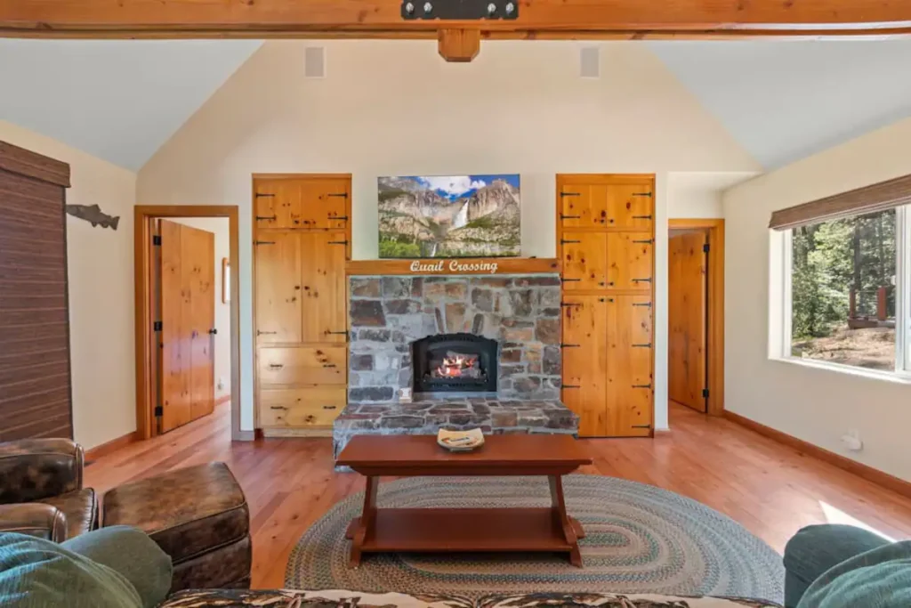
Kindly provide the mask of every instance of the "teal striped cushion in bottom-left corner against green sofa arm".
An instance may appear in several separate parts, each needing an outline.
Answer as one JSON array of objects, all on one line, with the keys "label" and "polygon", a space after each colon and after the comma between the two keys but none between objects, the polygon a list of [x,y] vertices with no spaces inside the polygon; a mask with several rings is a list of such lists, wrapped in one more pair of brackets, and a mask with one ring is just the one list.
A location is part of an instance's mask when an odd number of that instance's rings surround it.
[{"label": "teal striped cushion in bottom-left corner against green sofa arm", "polygon": [[52,541],[0,534],[0,605],[5,608],[143,608],[118,572]]}]

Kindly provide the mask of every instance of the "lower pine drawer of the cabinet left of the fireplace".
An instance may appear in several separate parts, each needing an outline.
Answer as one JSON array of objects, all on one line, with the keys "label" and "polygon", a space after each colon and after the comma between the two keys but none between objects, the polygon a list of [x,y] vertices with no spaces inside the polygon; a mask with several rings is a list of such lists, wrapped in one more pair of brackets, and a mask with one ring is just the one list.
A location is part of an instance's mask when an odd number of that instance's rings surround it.
[{"label": "lower pine drawer of the cabinet left of the fireplace", "polygon": [[260,391],[260,426],[332,427],[348,397],[345,386],[312,386]]}]

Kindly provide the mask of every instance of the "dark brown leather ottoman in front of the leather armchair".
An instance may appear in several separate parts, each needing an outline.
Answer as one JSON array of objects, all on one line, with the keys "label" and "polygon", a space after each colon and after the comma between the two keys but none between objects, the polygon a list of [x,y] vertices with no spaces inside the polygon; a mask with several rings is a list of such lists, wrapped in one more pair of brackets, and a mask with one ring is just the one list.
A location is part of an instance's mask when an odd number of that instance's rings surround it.
[{"label": "dark brown leather ottoman in front of the leather armchair", "polygon": [[135,526],[170,555],[171,593],[250,588],[250,510],[223,462],[126,483],[102,504],[102,526]]}]

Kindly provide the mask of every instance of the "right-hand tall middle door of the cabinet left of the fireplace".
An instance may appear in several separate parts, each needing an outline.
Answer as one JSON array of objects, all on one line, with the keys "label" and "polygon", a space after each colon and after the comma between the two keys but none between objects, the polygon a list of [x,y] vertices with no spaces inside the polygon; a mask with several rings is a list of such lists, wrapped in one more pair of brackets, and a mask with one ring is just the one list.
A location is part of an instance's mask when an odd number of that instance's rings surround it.
[{"label": "right-hand tall middle door of the cabinet left of the fireplace", "polygon": [[345,343],[345,232],[304,232],[302,239],[302,342]]}]

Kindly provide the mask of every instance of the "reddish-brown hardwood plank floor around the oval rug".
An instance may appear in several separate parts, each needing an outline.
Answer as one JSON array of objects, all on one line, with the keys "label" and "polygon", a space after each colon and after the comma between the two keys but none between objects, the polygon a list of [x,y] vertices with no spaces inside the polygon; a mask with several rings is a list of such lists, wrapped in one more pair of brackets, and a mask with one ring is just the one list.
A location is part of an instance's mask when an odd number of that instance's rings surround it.
[{"label": "reddish-brown hardwood plank floor around the oval rug", "polygon": [[[801,527],[857,522],[896,539],[911,537],[911,500],[804,456],[729,420],[670,406],[670,433],[655,439],[586,439],[595,459],[582,472],[679,492],[739,521],[783,551]],[[223,460],[251,510],[253,586],[279,587],[292,547],[333,504],[363,489],[356,474],[333,471],[328,438],[230,441],[230,409],[131,444],[86,469],[105,491],[130,479]]]}]

